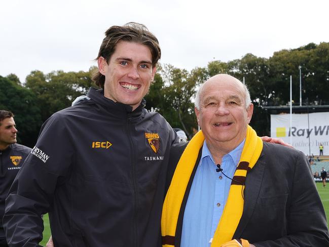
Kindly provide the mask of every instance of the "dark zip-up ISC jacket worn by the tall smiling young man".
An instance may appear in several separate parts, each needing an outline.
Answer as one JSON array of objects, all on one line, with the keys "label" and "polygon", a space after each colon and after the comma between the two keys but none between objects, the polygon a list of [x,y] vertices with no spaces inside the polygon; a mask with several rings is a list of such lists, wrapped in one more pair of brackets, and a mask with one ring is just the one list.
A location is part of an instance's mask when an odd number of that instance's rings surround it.
[{"label": "dark zip-up ISC jacket worn by the tall smiling young man", "polygon": [[[11,246],[39,246],[49,212],[54,246],[155,246],[170,147],[157,113],[91,88],[50,117],[6,201]],[[26,244],[26,245],[24,245]]]}]

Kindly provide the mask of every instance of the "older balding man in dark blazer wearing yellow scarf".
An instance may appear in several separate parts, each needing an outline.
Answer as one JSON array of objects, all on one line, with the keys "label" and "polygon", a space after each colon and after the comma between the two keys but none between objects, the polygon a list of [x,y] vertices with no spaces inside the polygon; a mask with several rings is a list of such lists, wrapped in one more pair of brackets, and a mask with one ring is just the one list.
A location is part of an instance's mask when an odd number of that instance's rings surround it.
[{"label": "older balding man in dark blazer wearing yellow scarf", "polygon": [[195,104],[202,131],[171,151],[177,163],[185,149],[163,206],[163,245],[329,246],[305,155],[262,142],[248,125],[247,88],[217,75],[200,87]]}]

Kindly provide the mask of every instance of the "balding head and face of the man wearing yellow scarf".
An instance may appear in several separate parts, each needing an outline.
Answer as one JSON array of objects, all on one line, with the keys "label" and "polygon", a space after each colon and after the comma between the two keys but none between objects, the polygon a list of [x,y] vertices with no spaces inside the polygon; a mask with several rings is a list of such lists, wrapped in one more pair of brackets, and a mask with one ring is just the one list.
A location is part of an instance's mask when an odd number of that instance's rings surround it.
[{"label": "balding head and face of the man wearing yellow scarf", "polygon": [[245,105],[242,84],[228,75],[209,79],[200,95],[200,110],[195,109],[207,145],[237,147],[245,138],[253,105]]}]

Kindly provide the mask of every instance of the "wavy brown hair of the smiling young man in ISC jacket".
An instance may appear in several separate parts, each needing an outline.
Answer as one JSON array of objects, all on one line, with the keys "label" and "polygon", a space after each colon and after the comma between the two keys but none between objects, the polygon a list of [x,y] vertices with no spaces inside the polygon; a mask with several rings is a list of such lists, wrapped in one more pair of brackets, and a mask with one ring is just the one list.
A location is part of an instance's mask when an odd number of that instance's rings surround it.
[{"label": "wavy brown hair of the smiling young man in ISC jacket", "polygon": [[[159,41],[149,29],[143,24],[129,22],[123,26],[112,26],[106,30],[105,38],[95,60],[103,57],[108,64],[119,41],[135,42],[149,47],[152,54],[152,66],[156,66],[161,57]],[[92,79],[97,86],[104,89],[105,76],[98,70],[95,70]]]}]

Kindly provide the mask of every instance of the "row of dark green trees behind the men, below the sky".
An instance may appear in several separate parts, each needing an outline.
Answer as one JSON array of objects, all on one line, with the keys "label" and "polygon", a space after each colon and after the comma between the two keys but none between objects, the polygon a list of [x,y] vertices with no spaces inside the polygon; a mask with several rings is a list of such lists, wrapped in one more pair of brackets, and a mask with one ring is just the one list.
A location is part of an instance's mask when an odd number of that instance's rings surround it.
[{"label": "row of dark green trees behind the men, below the sky", "polygon": [[[302,71],[302,99],[310,104],[329,104],[329,43],[310,43],[297,49],[277,51],[270,58],[246,54],[228,62],[211,61],[189,72],[170,64],[158,65],[150,87],[147,109],[162,114],[173,127],[191,138],[197,129],[194,96],[201,83],[217,74],[229,74],[245,81],[254,104],[251,125],[260,134],[269,134],[265,105],[286,105],[289,101],[290,75],[293,99],[299,104],[299,66]],[[53,113],[69,107],[77,96],[93,86],[91,67],[87,72],[57,70],[44,74],[32,71],[25,80],[10,74],[0,77],[0,108],[16,115],[23,144],[33,146],[41,124]],[[38,130],[38,131],[37,131]]]}]

